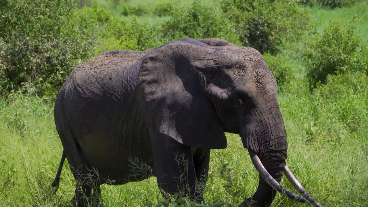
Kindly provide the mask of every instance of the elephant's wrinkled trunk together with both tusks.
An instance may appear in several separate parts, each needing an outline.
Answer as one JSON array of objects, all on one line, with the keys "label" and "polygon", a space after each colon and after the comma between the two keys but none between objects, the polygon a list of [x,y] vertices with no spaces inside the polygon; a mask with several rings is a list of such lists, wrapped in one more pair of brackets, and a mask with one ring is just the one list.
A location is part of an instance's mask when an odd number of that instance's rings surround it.
[{"label": "elephant's wrinkled trunk together with both tusks", "polygon": [[[286,166],[287,142],[286,130],[277,102],[266,107],[266,110],[252,110],[245,120],[243,144],[248,148],[252,162],[259,172],[258,189],[247,203],[252,207],[268,207],[275,198],[276,192],[280,192],[302,203],[320,206],[304,188],[298,189],[303,194],[303,198],[280,185]],[[294,182],[294,186],[298,186],[292,174],[287,174],[287,177]]]}]

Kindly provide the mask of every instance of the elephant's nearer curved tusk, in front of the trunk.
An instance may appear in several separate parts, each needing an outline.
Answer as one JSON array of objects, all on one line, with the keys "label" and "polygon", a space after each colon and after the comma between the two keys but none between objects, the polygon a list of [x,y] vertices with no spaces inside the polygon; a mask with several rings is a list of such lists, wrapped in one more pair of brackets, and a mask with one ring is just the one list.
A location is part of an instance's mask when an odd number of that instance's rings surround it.
[{"label": "elephant's nearer curved tusk, in front of the trunk", "polygon": [[259,172],[259,175],[270,185],[273,189],[277,190],[279,193],[289,197],[290,199],[299,201],[301,203],[309,203],[308,200],[298,196],[297,194],[294,194],[293,192],[290,192],[284,186],[282,186],[280,183],[278,183],[272,176],[267,172],[265,166],[263,166],[261,160],[257,155],[254,154],[254,152],[249,151],[249,155],[251,156],[252,162]]}]

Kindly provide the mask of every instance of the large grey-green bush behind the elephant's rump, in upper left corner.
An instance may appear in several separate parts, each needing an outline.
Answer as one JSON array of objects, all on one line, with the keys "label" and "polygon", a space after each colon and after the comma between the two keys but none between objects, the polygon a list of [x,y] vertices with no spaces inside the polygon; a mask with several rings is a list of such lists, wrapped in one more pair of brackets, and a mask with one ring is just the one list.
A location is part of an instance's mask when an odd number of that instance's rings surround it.
[{"label": "large grey-green bush behind the elephant's rump, in upper left corner", "polygon": [[74,20],[74,0],[0,3],[0,92],[54,95],[69,72],[89,57],[93,36]]}]

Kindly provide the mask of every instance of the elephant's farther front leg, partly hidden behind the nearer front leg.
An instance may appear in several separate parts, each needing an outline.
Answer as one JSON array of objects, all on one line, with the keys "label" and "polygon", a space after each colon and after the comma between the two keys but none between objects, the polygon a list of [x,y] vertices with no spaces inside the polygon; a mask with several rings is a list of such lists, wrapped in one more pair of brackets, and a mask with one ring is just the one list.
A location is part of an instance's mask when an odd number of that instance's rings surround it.
[{"label": "elephant's farther front leg, partly hidden behind the nearer front leg", "polygon": [[203,191],[208,177],[209,155],[210,149],[206,148],[197,148],[193,152],[193,164],[195,169],[195,175],[198,181],[196,185],[196,191],[201,194],[201,197],[203,195]]}]

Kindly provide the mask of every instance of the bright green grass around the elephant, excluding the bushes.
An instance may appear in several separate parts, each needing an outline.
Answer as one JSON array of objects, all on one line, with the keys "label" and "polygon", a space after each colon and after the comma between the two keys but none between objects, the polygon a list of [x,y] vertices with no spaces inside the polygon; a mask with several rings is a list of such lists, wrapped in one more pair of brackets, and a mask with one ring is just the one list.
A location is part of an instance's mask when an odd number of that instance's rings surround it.
[{"label": "bright green grass around the elephant, excluding the bushes", "polygon": [[[139,2],[137,0],[137,2]],[[137,3],[135,0],[131,3]],[[156,5],[158,0],[147,1]],[[350,8],[309,9],[319,32],[329,18],[359,14],[357,34],[367,39],[367,1]],[[153,17],[147,18],[147,21]],[[154,17],[156,18],[156,17]],[[156,21],[156,20],[155,20]],[[157,20],[160,21],[160,20]],[[290,82],[280,86],[279,103],[288,134],[287,164],[301,184],[325,207],[368,206],[368,78],[365,74],[330,76],[309,92],[302,41],[287,43],[280,55],[292,66]],[[228,147],[212,150],[205,189],[209,204],[236,206],[258,186],[258,173],[237,134],[226,134]],[[67,162],[60,187],[50,187],[62,146],[54,127],[53,103],[32,95],[0,99],[1,206],[68,206],[75,181]],[[282,184],[293,187],[286,179]],[[162,196],[156,178],[120,186],[102,185],[105,206],[149,206]],[[309,207],[277,194],[272,207]]]}]

